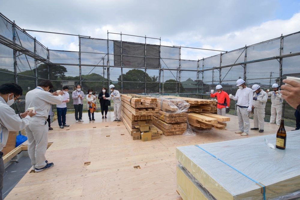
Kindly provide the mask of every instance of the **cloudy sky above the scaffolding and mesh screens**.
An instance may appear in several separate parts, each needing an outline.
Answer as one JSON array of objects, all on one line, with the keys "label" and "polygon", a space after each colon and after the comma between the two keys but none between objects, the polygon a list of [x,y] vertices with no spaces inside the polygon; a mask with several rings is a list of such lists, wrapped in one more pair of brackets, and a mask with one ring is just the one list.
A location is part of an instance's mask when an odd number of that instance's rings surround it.
[{"label": "cloudy sky above the scaffolding and mesh screens", "polygon": [[[166,46],[230,51],[300,31],[299,0],[0,1],[0,12],[24,29],[107,38],[107,30],[161,37]],[[78,37],[29,32],[49,49],[78,51]],[[110,39],[120,40],[110,34]],[[143,38],[123,40],[145,42]],[[157,44],[158,40],[147,40]],[[220,52],[182,49],[183,59]],[[171,75],[170,75],[171,76]]]}]

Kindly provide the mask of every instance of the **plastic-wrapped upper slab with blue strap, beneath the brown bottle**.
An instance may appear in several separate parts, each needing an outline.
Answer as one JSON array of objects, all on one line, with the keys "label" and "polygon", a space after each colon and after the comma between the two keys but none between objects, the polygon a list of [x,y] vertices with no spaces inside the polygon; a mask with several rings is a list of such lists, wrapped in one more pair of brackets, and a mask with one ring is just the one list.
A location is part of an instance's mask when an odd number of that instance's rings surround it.
[{"label": "plastic-wrapped upper slab with blue strap, beneath the brown bottle", "polygon": [[265,138],[275,145],[272,134],[177,147],[176,158],[215,199],[299,197],[300,130],[287,133],[285,150],[268,147]]}]

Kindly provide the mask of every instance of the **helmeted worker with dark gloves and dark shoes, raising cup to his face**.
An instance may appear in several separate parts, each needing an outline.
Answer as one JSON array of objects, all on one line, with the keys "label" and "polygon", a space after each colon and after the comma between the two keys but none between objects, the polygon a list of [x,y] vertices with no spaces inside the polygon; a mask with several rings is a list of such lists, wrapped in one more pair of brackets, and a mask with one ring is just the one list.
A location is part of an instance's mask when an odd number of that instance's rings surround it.
[{"label": "helmeted worker with dark gloves and dark shoes, raising cup to his face", "polygon": [[259,133],[263,133],[265,125],[265,103],[268,100],[268,94],[260,89],[260,86],[257,84],[252,86],[252,90],[254,92],[252,106],[254,128],[251,128],[251,130],[259,130]]}]

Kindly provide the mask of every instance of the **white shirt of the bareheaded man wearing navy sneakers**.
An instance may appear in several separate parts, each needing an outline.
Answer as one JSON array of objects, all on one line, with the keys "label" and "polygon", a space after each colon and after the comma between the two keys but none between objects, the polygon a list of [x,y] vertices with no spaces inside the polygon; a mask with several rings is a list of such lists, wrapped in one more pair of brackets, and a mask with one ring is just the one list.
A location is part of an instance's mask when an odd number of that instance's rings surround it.
[{"label": "white shirt of the bareheaded man wearing navy sneakers", "polygon": [[51,104],[61,104],[62,96],[53,96],[50,92],[44,91],[41,87],[27,92],[25,97],[25,110],[35,107],[36,115],[33,118],[48,119],[48,113]]}]

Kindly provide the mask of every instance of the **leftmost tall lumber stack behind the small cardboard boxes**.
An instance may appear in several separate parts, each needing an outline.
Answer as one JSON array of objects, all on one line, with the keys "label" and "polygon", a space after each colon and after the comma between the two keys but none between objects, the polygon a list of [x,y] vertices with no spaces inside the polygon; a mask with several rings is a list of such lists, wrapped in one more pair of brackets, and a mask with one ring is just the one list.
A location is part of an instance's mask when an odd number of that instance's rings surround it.
[{"label": "leftmost tall lumber stack behind the small cardboard boxes", "polygon": [[[143,96],[144,97],[144,96]],[[139,122],[144,121],[146,124],[152,125],[152,116],[158,112],[157,100],[153,97],[140,98],[134,94],[122,94],[122,120],[132,135],[132,129]]]}]

